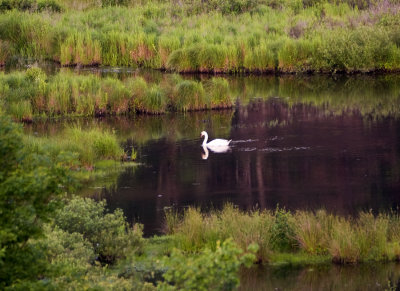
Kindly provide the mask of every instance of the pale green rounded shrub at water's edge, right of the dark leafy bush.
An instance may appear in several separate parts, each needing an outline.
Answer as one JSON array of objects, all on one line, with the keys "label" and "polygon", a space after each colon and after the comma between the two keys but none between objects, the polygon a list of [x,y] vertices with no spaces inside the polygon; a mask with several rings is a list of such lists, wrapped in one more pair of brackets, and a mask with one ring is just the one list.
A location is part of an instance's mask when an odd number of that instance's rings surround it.
[{"label": "pale green rounded shrub at water's edge, right of the dark leafy bush", "polygon": [[140,251],[143,244],[142,227],[131,228],[119,209],[106,213],[104,201],[73,198],[57,212],[55,225],[68,233],[82,234],[102,263],[115,263]]}]

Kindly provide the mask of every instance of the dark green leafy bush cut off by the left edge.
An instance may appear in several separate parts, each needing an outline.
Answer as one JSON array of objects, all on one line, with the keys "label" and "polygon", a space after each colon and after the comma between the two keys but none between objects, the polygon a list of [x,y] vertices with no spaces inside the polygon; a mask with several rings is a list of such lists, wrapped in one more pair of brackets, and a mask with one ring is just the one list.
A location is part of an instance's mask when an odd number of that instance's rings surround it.
[{"label": "dark green leafy bush cut off by the left edge", "polygon": [[[43,233],[57,197],[71,181],[60,163],[24,149],[19,126],[0,116],[0,288],[44,271],[41,250],[28,244]],[[66,188],[63,188],[66,187]]]}]

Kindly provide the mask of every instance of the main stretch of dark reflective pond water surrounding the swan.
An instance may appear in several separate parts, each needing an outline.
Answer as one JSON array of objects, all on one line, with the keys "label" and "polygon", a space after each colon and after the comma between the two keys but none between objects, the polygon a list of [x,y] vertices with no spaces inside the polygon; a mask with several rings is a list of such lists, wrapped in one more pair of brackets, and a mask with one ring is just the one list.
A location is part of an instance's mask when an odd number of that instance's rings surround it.
[{"label": "main stretch of dark reflective pond water surrounding the swan", "polygon": [[[232,110],[74,120],[112,128],[138,152],[140,166],[93,195],[143,223],[146,235],[162,231],[165,207],[230,201],[354,215],[400,204],[400,76],[227,78]],[[70,123],[26,130],[51,135]],[[203,130],[232,139],[230,150],[203,159]]]}]

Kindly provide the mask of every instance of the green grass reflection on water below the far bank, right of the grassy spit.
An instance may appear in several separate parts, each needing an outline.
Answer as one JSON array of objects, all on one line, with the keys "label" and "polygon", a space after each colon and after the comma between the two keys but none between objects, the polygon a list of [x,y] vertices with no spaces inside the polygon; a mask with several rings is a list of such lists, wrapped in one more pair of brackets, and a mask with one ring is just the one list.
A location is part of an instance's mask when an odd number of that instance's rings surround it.
[{"label": "green grass reflection on water below the far bank, right of the grassy spit", "polygon": [[[232,90],[243,105],[257,98],[279,97],[292,107],[305,104],[324,114],[360,113],[363,117],[398,117],[399,77],[349,77],[339,80],[315,77],[250,77],[232,82]],[[239,83],[242,82],[242,83]]]}]

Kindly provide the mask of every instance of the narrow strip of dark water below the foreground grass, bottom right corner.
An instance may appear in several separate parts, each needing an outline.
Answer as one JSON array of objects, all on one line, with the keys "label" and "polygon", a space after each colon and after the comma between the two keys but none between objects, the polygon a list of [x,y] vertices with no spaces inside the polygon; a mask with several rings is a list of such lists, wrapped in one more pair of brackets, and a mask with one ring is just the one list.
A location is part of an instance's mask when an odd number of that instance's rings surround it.
[{"label": "narrow strip of dark water below the foreground grass, bottom right corner", "polygon": [[240,291],[399,290],[400,265],[260,267],[244,270],[240,285]]}]

